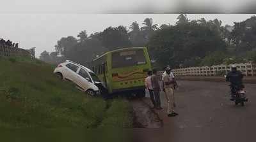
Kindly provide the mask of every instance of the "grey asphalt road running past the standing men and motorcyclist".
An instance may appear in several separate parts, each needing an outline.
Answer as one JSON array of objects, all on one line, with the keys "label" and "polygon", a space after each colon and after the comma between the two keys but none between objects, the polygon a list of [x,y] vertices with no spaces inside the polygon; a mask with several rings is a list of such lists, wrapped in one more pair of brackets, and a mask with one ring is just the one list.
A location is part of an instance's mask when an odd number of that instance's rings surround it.
[{"label": "grey asphalt road running past the standing men and motorcyclist", "polygon": [[[136,141],[256,141],[256,84],[246,84],[248,103],[230,101],[228,83],[180,81],[175,92],[177,117],[163,119],[161,129],[134,129]],[[164,94],[161,93],[162,104]],[[164,105],[163,105],[164,106]]]}]

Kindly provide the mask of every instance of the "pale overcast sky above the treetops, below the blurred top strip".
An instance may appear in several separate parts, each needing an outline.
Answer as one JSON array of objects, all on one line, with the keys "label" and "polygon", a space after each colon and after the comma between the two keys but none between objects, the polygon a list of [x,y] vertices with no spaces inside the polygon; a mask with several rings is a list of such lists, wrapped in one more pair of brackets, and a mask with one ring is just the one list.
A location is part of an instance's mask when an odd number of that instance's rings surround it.
[{"label": "pale overcast sky above the treetops, below the blurred top strip", "polygon": [[[67,36],[76,37],[80,31],[86,30],[90,35],[93,32],[103,31],[109,26],[124,25],[129,27],[132,22],[138,21],[140,26],[145,18],[153,18],[155,24],[175,24],[177,14],[6,14],[0,15],[0,37],[19,43],[21,48],[36,47],[36,57],[47,50],[54,51],[58,39]],[[218,18],[223,25],[233,25],[252,15],[188,15],[188,18],[206,20]]]}]

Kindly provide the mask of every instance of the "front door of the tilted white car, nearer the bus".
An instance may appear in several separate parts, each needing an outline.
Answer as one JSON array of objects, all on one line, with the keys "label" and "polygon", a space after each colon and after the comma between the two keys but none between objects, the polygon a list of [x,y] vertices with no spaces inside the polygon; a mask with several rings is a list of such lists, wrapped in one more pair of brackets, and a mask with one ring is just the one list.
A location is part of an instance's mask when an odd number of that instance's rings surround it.
[{"label": "front door of the tilted white car, nearer the bus", "polygon": [[78,83],[80,87],[82,87],[84,90],[88,90],[92,88],[93,81],[88,71],[86,71],[86,69],[80,68],[78,71],[78,75],[79,75]]}]

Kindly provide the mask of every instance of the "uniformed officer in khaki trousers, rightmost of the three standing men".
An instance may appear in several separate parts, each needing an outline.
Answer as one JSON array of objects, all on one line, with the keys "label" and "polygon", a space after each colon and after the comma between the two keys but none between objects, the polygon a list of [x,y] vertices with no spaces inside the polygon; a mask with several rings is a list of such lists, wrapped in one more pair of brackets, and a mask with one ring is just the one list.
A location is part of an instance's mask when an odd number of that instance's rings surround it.
[{"label": "uniformed officer in khaki trousers, rightmost of the three standing men", "polygon": [[166,97],[167,114],[168,117],[175,117],[176,115],[179,115],[174,111],[174,89],[177,83],[175,81],[173,73],[171,73],[171,68],[166,67],[165,71],[166,74],[163,76],[163,88]]}]

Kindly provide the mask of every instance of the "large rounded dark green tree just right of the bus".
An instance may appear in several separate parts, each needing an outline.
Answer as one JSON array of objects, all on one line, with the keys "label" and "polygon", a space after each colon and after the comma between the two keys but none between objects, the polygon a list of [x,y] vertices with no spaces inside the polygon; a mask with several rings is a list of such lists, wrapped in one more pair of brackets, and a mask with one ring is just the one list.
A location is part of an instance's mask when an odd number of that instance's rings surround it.
[{"label": "large rounded dark green tree just right of the bus", "polygon": [[148,43],[151,57],[172,67],[195,66],[212,52],[225,52],[226,47],[220,34],[195,21],[157,31]]}]

